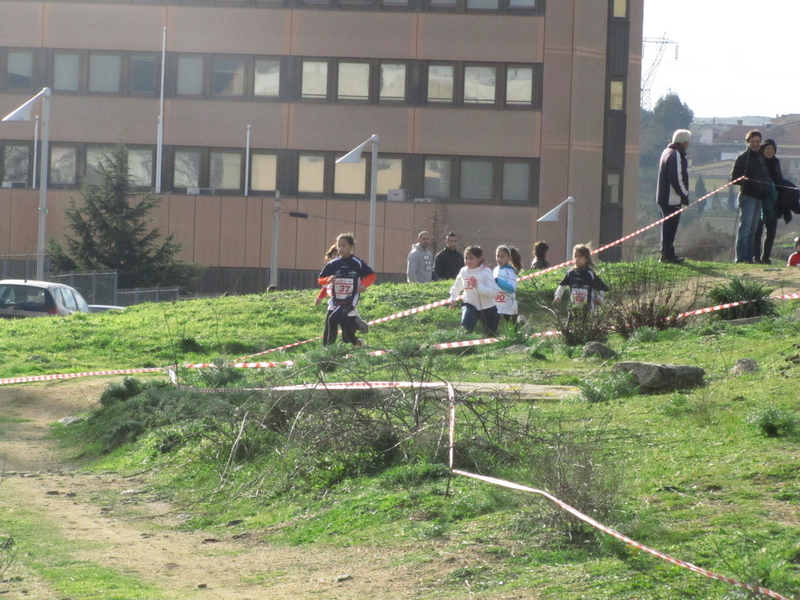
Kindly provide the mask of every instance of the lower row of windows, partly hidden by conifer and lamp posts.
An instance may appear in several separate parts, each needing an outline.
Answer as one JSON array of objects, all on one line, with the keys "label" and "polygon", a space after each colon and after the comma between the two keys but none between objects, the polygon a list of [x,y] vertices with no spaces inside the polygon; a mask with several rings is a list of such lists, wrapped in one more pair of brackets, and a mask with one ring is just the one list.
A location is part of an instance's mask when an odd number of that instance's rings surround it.
[{"label": "lower row of windows, partly hidden by conifer and lamp posts", "polygon": [[[5,142],[2,151],[3,187],[27,187],[32,179],[32,147],[27,142]],[[90,185],[99,183],[98,165],[107,147],[86,144],[50,145],[48,186],[70,188],[82,177]],[[255,150],[247,156],[241,149],[164,148],[164,189],[177,193],[254,193],[299,196],[365,197],[370,188],[370,156],[359,163],[336,164],[344,152],[302,150]],[[155,148],[130,146],[128,171],[135,186],[151,189],[155,184]],[[537,204],[538,159],[503,157],[431,156],[381,154],[377,164],[377,193],[405,190],[407,199],[443,201],[507,202]],[[407,192],[407,193],[406,193]],[[394,194],[394,193],[393,193]]]}]

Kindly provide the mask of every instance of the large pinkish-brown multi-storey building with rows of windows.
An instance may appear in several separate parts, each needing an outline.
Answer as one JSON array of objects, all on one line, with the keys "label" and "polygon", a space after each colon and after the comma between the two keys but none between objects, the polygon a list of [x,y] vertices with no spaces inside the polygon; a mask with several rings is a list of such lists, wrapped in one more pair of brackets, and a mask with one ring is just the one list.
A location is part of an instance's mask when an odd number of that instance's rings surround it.
[{"label": "large pinkish-brown multi-storey building with rows of windows", "polygon": [[[536,220],[567,196],[576,243],[634,227],[642,12],[643,0],[0,0],[0,113],[53,90],[58,237],[104,146],[124,141],[142,190],[156,187],[166,31],[155,219],[184,260],[267,269],[276,191],[309,215],[278,217],[280,269],[318,270],[343,231],[365,257],[369,153],[334,161],[372,134],[376,271],[404,272],[422,229],[527,256],[547,239],[560,259],[565,216]],[[36,250],[33,130],[0,123],[0,255]]]}]

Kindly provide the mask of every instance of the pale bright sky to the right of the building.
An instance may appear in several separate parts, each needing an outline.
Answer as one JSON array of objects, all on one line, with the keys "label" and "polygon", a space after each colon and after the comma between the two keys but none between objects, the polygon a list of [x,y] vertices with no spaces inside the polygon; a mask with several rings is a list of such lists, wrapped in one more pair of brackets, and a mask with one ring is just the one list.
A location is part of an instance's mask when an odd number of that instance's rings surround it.
[{"label": "pale bright sky to the right of the building", "polygon": [[[800,0],[645,0],[644,37],[666,37],[650,85],[695,117],[800,113]],[[656,56],[645,43],[642,76]],[[651,107],[652,108],[652,107]]]}]

